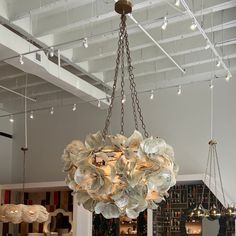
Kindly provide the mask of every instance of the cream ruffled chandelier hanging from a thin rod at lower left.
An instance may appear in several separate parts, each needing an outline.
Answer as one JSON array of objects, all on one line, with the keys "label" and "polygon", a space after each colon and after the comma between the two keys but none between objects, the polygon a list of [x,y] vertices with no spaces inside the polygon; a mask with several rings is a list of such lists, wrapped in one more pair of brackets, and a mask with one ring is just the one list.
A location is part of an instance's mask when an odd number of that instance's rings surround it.
[{"label": "cream ruffled chandelier hanging from a thin rod at lower left", "polygon": [[[28,134],[27,134],[27,80],[26,74],[26,88],[25,88],[25,145],[21,148],[23,151],[23,184],[22,184],[22,202],[24,202],[25,193],[25,170],[26,170],[26,152],[28,151]],[[48,220],[48,212],[44,206],[41,205],[25,205],[25,204],[4,204],[0,206],[0,222],[20,224],[26,223],[43,223]]]}]

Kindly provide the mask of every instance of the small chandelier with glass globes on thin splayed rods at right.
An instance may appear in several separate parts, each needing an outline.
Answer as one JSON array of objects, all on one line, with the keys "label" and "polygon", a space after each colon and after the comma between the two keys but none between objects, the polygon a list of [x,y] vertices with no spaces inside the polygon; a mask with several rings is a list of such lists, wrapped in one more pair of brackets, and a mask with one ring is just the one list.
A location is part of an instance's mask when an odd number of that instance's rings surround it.
[{"label": "small chandelier with glass globes on thin splayed rods at right", "polygon": [[[221,176],[221,169],[219,164],[219,157],[216,149],[217,141],[213,139],[213,84],[211,81],[211,140],[209,141],[209,151],[207,158],[206,171],[204,174],[204,187],[202,191],[200,203],[191,211],[190,218],[202,219],[207,218],[208,220],[217,220],[222,216],[236,218],[236,208],[226,207],[225,192],[223,187],[223,181]],[[213,179],[213,181],[212,181]],[[218,190],[217,190],[217,180],[220,184],[220,192],[223,197],[223,207],[218,204]],[[208,202],[207,209],[203,207],[203,200],[206,194],[206,185],[208,184],[209,189],[213,187],[215,191],[215,202],[211,202],[211,193],[208,191]]]}]

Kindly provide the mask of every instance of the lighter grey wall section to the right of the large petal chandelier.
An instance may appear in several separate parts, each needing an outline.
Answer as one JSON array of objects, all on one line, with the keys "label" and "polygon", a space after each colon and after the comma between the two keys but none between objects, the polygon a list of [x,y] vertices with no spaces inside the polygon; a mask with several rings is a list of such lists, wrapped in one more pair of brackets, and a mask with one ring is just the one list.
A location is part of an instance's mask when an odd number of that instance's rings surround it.
[{"label": "lighter grey wall section to the right of the large petal chandelier", "polygon": [[[233,188],[236,178],[236,80],[216,82],[214,87],[214,137],[218,141],[218,154],[226,192],[236,202]],[[140,95],[144,118],[150,135],[164,138],[175,149],[180,174],[204,173],[210,140],[209,83],[183,87],[181,96],[177,88],[160,90],[153,101],[150,94]],[[129,107],[128,104],[126,104]],[[120,108],[113,117],[113,130],[119,131]],[[134,129],[133,116],[126,112],[126,130]]]}]

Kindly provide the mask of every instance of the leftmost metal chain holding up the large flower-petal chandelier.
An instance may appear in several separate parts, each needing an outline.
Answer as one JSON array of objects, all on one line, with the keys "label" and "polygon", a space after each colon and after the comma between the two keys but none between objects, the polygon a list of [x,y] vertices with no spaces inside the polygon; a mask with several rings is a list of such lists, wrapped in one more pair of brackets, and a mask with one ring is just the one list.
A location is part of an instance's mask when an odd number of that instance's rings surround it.
[{"label": "leftmost metal chain holding up the large flower-petal chandelier", "polygon": [[118,73],[119,73],[119,66],[120,66],[120,58],[121,58],[121,49],[122,49],[122,35],[124,35],[124,31],[125,31],[124,24],[123,24],[124,17],[125,17],[124,15],[121,15],[114,83],[113,83],[113,87],[112,87],[111,102],[110,102],[110,105],[108,108],[108,113],[107,113],[107,117],[106,117],[106,121],[105,121],[105,127],[102,132],[103,137],[105,137],[108,133],[108,128],[110,126],[111,116],[112,116],[112,108],[113,108],[115,94],[116,94],[116,87],[117,87],[117,80],[118,80]]}]

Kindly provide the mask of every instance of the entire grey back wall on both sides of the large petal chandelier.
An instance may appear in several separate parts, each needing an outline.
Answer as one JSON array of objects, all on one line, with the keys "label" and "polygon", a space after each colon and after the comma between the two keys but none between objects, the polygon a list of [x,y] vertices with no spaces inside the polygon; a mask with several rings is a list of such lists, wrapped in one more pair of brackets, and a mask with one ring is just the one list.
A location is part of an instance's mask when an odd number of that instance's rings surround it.
[{"label": "entire grey back wall on both sides of the large petal chandelier", "polygon": [[[176,88],[161,90],[153,101],[148,94],[140,96],[145,121],[150,134],[163,137],[173,145],[180,174],[198,174],[205,171],[210,139],[210,90],[207,82],[183,88],[177,96]],[[217,81],[215,85],[214,137],[218,141],[218,153],[222,166],[226,192],[236,200],[234,185],[236,159],[236,81]],[[129,101],[126,103],[128,106]],[[36,114],[29,121],[29,153],[27,178],[30,182],[62,180],[61,154],[63,148],[74,138],[84,139],[89,132],[103,128],[105,111],[91,105],[82,105],[76,113],[71,108]],[[22,118],[22,117],[21,117]],[[23,126],[21,118],[14,124],[13,182],[21,181]],[[130,108],[126,112],[127,135],[134,129]],[[119,131],[120,108],[113,114],[112,130]]]}]

